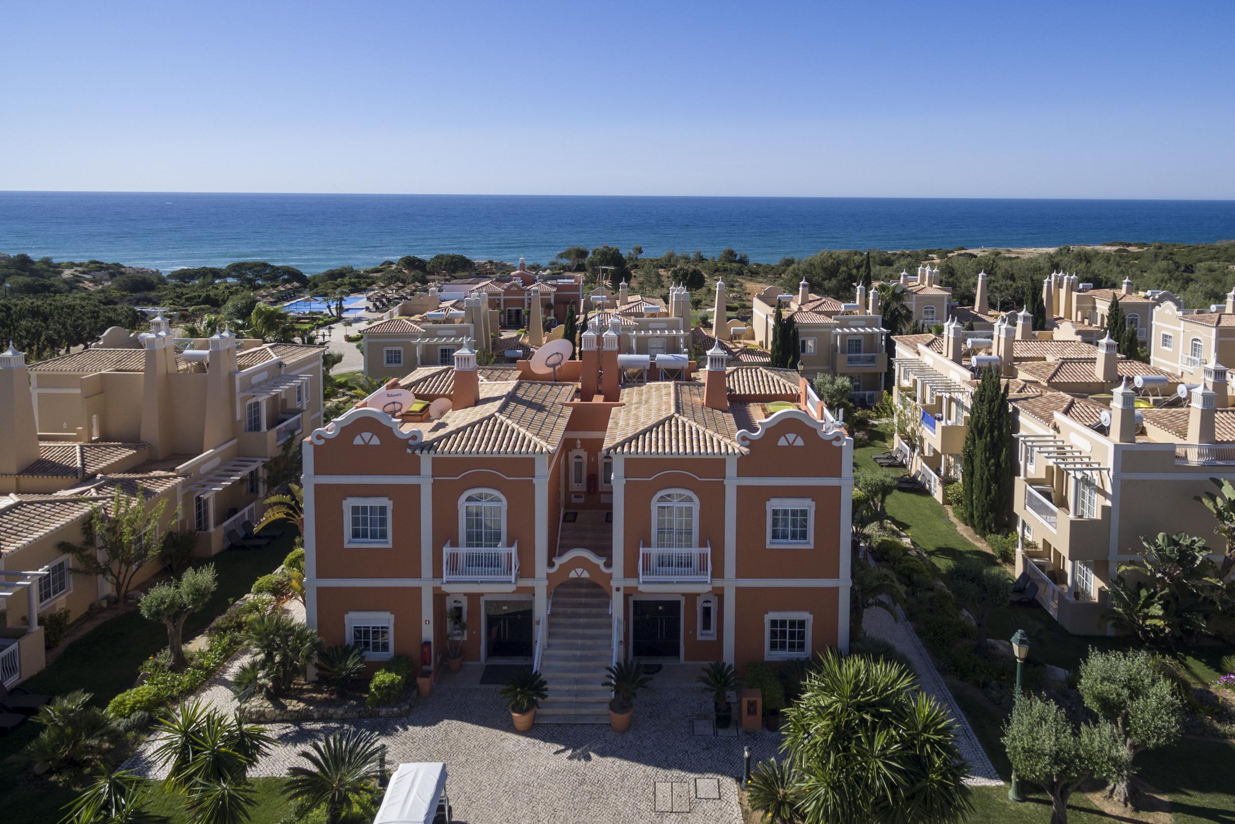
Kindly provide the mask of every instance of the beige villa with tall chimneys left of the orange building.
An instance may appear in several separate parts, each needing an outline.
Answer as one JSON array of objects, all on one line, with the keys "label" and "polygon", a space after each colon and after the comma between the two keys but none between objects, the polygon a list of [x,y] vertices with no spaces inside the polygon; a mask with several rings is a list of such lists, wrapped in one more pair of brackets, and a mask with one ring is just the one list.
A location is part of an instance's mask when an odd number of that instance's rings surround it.
[{"label": "beige villa with tall chimneys left of the orange building", "polygon": [[[57,549],[83,542],[91,505],[106,510],[117,488],[165,500],[164,529],[195,531],[196,553],[214,555],[258,520],[263,466],[321,424],[325,347],[227,332],[174,338],[162,317],[151,327],[109,330],[109,346],[28,366],[11,347],[0,355],[0,410],[11,421],[0,442],[5,686],[42,666],[38,614],[77,618],[109,595]],[[148,563],[136,583],[157,570]]]}]

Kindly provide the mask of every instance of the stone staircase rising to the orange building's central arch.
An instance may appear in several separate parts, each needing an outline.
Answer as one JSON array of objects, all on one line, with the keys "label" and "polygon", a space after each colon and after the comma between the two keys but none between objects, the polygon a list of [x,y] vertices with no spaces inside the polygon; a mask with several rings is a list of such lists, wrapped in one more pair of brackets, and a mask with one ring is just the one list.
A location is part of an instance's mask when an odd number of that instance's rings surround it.
[{"label": "stone staircase rising to the orange building's central arch", "polygon": [[608,724],[609,691],[601,687],[613,663],[609,594],[590,581],[567,581],[553,589],[541,675],[548,698],[537,724]]}]

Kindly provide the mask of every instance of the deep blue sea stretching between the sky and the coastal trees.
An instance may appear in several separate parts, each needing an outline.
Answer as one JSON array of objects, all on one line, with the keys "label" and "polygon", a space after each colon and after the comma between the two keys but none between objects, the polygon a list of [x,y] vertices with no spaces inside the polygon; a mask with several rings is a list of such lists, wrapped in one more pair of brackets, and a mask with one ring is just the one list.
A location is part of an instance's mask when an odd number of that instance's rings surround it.
[{"label": "deep blue sea stretching between the sky and the coastal trees", "polygon": [[601,243],[776,262],[835,248],[1235,240],[1235,200],[962,200],[0,191],[0,252],[163,272],[316,273],[457,252],[545,263]]}]

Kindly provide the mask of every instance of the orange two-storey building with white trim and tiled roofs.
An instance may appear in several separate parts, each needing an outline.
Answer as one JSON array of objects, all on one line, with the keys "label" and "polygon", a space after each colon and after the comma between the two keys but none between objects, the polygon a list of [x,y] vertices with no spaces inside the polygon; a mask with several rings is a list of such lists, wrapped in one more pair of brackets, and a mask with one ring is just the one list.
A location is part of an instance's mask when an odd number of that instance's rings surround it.
[{"label": "orange two-storey building with white trim and tiled roofs", "polygon": [[587,330],[557,382],[477,369],[464,346],[387,388],[448,411],[362,401],[306,439],[308,618],[326,644],[436,668],[453,635],[466,661],[532,662],[542,720],[606,720],[615,660],[847,649],[852,440],[795,372],[718,347],[656,380],[619,363],[624,334]]}]

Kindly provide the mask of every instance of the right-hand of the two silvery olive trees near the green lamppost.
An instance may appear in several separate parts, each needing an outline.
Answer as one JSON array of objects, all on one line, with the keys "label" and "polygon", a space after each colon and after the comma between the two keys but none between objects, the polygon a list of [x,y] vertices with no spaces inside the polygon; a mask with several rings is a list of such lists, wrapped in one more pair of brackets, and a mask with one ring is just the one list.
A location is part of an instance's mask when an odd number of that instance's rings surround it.
[{"label": "right-hand of the two silvery olive trees near the green lamppost", "polygon": [[1183,705],[1149,652],[1092,650],[1081,662],[1077,684],[1084,705],[1110,721],[1128,751],[1126,775],[1110,786],[1110,797],[1124,805],[1134,802],[1132,759],[1142,750],[1166,746],[1182,734]]}]

